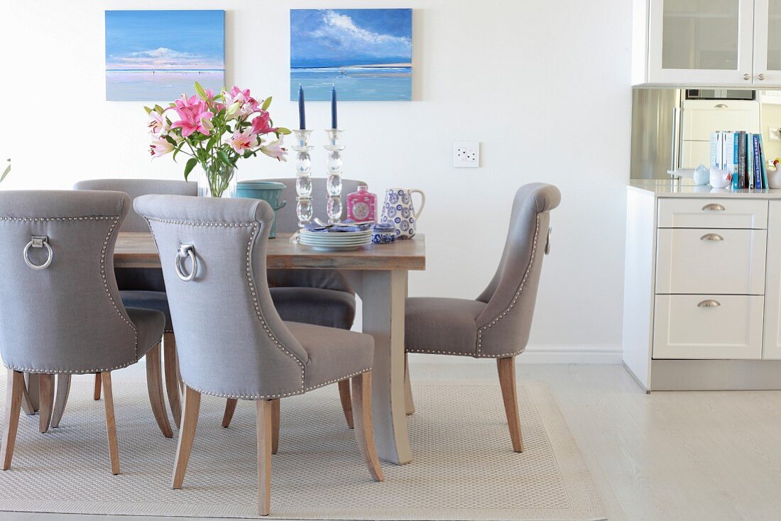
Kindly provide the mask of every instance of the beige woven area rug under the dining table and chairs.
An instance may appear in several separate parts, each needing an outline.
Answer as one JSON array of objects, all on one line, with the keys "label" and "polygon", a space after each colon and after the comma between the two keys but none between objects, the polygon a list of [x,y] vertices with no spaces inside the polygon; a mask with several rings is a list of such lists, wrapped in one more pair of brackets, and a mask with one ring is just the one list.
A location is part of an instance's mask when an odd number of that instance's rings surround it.
[{"label": "beige woven area rug under the dining table and chairs", "polygon": [[[4,383],[3,383],[4,384]],[[337,386],[282,400],[272,464],[272,518],[604,519],[583,455],[547,386],[519,387],[525,452],[510,449],[497,384],[415,385],[408,416],[415,460],[383,462],[374,483],[342,416]],[[0,389],[5,403],[5,385]],[[22,416],[0,510],[136,516],[257,517],[255,408],[204,396],[184,488],[170,488],[177,439],[160,434],[144,384],[115,383],[122,473],[112,476],[102,402],[74,383],[58,429]],[[0,419],[2,421],[2,419]],[[175,430],[176,435],[176,430]]]}]

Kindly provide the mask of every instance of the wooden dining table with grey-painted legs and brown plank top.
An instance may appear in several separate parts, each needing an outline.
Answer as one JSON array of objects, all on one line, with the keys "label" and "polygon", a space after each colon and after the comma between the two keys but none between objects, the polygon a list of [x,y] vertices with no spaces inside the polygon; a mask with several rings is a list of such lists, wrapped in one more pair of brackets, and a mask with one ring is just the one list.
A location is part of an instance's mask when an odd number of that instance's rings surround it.
[{"label": "wooden dining table with grey-painted legs and brown plank top", "polygon": [[[374,337],[373,423],[377,454],[398,465],[412,461],[407,432],[412,401],[405,395],[404,319],[408,272],[426,269],[423,235],[391,244],[370,244],[350,252],[321,252],[289,241],[290,234],[269,239],[268,268],[339,269],[362,302],[362,330]],[[163,259],[174,262],[174,259]],[[160,267],[150,233],[122,232],[114,266]]]}]

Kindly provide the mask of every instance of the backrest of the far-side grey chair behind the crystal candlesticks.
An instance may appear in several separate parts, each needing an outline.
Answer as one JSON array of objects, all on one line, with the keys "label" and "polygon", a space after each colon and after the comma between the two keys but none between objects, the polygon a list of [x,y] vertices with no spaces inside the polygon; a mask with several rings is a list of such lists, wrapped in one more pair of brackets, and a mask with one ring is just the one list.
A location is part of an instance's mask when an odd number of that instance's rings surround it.
[{"label": "backrest of the far-side grey chair behind the crystal candlesticks", "polygon": [[[298,216],[296,215],[295,177],[284,179],[260,179],[261,181],[276,181],[285,185],[280,194],[280,202],[287,201],[284,208],[276,210],[276,231],[283,234],[292,234],[298,230]],[[358,190],[359,186],[366,183],[355,179],[342,180],[342,201],[348,194]],[[326,178],[312,177],[312,200],[315,205],[315,216],[323,220],[326,216]],[[347,219],[347,205],[342,205],[342,219]],[[355,294],[348,280],[336,269],[269,269],[269,284],[272,287],[319,287],[326,290],[344,291]]]}]

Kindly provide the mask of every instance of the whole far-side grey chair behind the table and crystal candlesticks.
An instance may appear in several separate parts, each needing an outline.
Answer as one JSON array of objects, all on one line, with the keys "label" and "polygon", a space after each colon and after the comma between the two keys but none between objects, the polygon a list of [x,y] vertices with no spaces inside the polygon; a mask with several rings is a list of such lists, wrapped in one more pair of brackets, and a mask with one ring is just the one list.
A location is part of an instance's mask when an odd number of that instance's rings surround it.
[{"label": "whole far-side grey chair behind the table and crystal candlesticks", "polygon": [[[298,230],[298,216],[295,205],[296,178],[261,179],[276,181],[285,185],[280,201],[287,201],[284,208],[276,211],[276,231],[292,234]],[[350,194],[366,186],[359,180],[343,179],[342,194]],[[326,179],[312,178],[312,194],[315,204],[315,216],[326,215]],[[343,206],[342,219],[347,219],[347,205]],[[355,321],[355,290],[344,275],[336,269],[269,269],[269,288],[271,298],[283,320],[314,324],[316,326],[338,327],[349,330]],[[339,383],[340,396],[350,395],[347,380]],[[230,425],[230,419],[236,409],[236,400],[228,400],[223,416],[223,426]],[[353,428],[349,399],[344,408],[344,417],[348,426]]]}]

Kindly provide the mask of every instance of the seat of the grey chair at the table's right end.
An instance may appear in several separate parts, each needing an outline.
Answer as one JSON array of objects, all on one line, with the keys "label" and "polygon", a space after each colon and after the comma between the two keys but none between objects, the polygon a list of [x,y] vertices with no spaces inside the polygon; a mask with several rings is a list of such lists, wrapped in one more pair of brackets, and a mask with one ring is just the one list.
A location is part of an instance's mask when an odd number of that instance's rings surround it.
[{"label": "seat of the grey chair at the table's right end", "polygon": [[404,344],[407,352],[476,356],[475,319],[484,302],[463,298],[408,298]]}]

